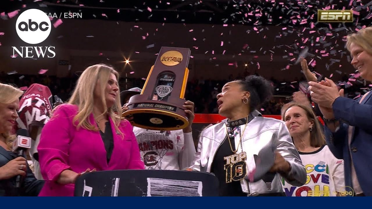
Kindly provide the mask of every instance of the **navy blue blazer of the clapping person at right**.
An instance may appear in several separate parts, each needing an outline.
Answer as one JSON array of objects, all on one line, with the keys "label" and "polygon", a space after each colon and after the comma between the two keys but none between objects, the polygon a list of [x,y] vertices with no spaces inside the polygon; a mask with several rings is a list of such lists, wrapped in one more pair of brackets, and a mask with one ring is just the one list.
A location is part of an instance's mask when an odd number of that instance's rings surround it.
[{"label": "navy blue blazer of the clapping person at right", "polygon": [[[353,163],[360,187],[366,196],[372,196],[372,99],[370,92],[362,103],[360,99],[353,100],[338,97],[333,103],[333,112],[340,120],[340,128],[332,133],[327,126],[325,139],[328,147],[336,158],[344,160],[345,186],[353,187],[351,180],[351,157],[348,144],[349,125],[354,126],[350,145]],[[348,191],[348,190],[346,190]]]}]

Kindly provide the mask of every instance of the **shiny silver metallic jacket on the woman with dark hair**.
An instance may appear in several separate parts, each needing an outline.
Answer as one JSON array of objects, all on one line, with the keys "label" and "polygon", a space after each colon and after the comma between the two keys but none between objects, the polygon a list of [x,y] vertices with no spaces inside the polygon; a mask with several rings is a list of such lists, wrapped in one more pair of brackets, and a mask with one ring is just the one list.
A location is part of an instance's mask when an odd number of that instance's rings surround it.
[{"label": "shiny silver metallic jacket on the woman with dark hair", "polygon": [[[241,125],[240,129],[243,130],[244,126],[245,124]],[[195,154],[194,165],[190,168],[195,171],[211,173],[214,155],[224,141],[226,134],[225,122],[209,126],[202,131],[199,138],[198,150]],[[276,147],[276,151],[279,151],[292,167],[289,174],[282,177],[294,186],[305,184],[305,167],[302,165],[301,158],[292,142],[288,128],[282,120],[254,117],[247,124],[242,138],[242,145],[239,145],[238,148],[239,140],[240,134],[235,137],[235,149],[238,149],[237,153],[239,153],[242,152],[241,147],[243,147],[243,151],[247,153],[246,163],[248,173],[250,173],[252,167],[256,167],[253,155],[258,155],[259,151],[267,146],[273,146]],[[275,174],[271,184],[267,184],[263,180],[248,182],[247,179],[248,177],[240,181],[241,188],[244,193],[247,193],[247,196],[283,192],[279,173]]]}]

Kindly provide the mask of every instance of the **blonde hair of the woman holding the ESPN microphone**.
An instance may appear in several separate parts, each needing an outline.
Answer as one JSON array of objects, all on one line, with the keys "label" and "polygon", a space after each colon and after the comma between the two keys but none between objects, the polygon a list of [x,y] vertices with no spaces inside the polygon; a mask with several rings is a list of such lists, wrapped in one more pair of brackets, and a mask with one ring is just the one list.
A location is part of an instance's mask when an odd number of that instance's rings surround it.
[{"label": "blonde hair of the woman holding the ESPN microphone", "polygon": [[[23,91],[20,89],[17,89],[9,84],[0,83],[0,103],[12,103],[17,99],[19,100],[19,97],[22,96],[22,94]],[[10,132],[1,133],[1,135],[3,135],[5,138],[5,143],[8,145],[9,149],[12,149],[12,142],[15,139],[15,135],[12,135]]]}]

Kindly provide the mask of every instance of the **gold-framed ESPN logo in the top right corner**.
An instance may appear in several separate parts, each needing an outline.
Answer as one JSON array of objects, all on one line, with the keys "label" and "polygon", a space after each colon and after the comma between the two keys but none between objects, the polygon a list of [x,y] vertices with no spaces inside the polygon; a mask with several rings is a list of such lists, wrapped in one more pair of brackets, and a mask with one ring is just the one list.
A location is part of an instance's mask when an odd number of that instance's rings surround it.
[{"label": "gold-framed ESPN logo in the top right corner", "polygon": [[353,10],[318,10],[318,22],[353,22]]}]

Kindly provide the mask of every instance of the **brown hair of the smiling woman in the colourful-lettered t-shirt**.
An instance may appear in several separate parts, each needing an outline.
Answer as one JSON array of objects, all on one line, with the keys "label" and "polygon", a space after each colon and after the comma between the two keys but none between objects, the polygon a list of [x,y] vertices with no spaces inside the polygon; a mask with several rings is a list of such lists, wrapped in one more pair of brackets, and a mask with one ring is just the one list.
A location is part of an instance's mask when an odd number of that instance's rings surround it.
[{"label": "brown hair of the smiling woman in the colourful-lettered t-shirt", "polygon": [[289,108],[291,108],[293,106],[301,107],[303,110],[305,110],[306,115],[307,115],[307,119],[312,120],[314,122],[313,129],[310,132],[310,145],[312,147],[321,147],[321,146],[325,145],[326,144],[325,137],[324,137],[324,134],[323,134],[323,132],[320,128],[320,124],[319,124],[319,121],[317,119],[317,116],[315,116],[314,111],[309,106],[302,105],[302,104],[299,104],[299,103],[296,103],[296,102],[290,102],[290,103],[287,103],[287,104],[283,105],[282,110],[281,110],[282,120],[285,121],[285,118],[284,118],[285,113],[287,112],[287,110]]}]

